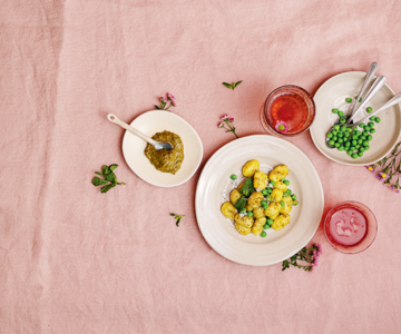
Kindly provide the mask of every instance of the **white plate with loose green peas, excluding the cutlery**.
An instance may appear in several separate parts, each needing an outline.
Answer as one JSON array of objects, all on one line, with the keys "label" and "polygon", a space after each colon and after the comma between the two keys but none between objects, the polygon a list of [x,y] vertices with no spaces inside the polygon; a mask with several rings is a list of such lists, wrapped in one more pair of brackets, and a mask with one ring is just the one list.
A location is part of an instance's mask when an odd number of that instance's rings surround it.
[{"label": "white plate with loose green peas, excluding the cutlery", "polygon": [[[365,72],[359,71],[340,73],[326,80],[314,96],[316,116],[311,127],[312,140],[325,157],[340,164],[374,164],[390,153],[400,137],[400,105],[381,111],[380,117],[370,117],[358,127],[346,125],[350,106],[365,76]],[[354,122],[378,110],[393,96],[394,91],[389,85],[384,85],[356,115]],[[329,148],[326,141],[334,148]]]}]

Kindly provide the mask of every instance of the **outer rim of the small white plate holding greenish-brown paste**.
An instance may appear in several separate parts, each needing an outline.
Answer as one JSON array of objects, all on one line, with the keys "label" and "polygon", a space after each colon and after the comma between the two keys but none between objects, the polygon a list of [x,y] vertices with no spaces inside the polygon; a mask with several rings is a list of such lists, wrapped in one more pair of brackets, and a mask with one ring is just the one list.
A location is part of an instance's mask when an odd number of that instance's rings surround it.
[{"label": "outer rim of the small white plate holding greenish-brown paste", "polygon": [[[146,115],[148,115],[148,114],[154,114],[155,111],[156,111],[156,112],[159,112],[160,110],[149,110],[149,111],[145,111],[145,112],[140,114],[139,116],[137,116],[135,119],[133,119],[133,121],[129,122],[129,126],[133,126],[133,124],[134,124],[136,120],[140,119],[141,117],[146,117]],[[198,144],[199,144],[200,155],[199,155],[198,160],[197,160],[197,163],[196,163],[196,167],[194,168],[194,170],[193,170],[184,180],[178,181],[178,183],[175,183],[175,184],[170,184],[170,185],[159,185],[159,184],[157,184],[157,183],[154,183],[154,181],[149,180],[148,178],[146,178],[145,176],[143,176],[141,173],[138,171],[138,169],[135,168],[134,165],[129,164],[129,159],[128,159],[127,156],[126,156],[126,153],[125,153],[125,150],[124,150],[124,143],[125,143],[125,140],[127,140],[127,139],[126,139],[126,138],[127,138],[127,134],[130,134],[128,130],[126,130],[126,131],[124,132],[123,143],[121,143],[123,156],[124,156],[124,159],[126,160],[126,164],[128,165],[128,167],[135,173],[136,176],[138,176],[138,177],[139,177],[140,179],[143,179],[144,181],[146,181],[146,183],[148,183],[148,184],[150,184],[150,185],[153,185],[153,186],[160,187],[160,188],[177,187],[177,186],[180,186],[180,185],[185,184],[186,181],[188,181],[188,180],[194,176],[194,174],[196,173],[196,170],[199,168],[199,165],[200,165],[202,159],[203,159],[203,154],[204,154],[204,149],[203,149],[203,144],[202,144],[200,137],[199,137],[199,135],[196,132],[196,130],[193,128],[193,126],[192,126],[189,122],[187,122],[183,117],[179,117],[178,115],[175,115],[175,114],[173,114],[173,112],[170,112],[170,111],[166,111],[166,112],[168,112],[168,114],[166,114],[166,115],[168,115],[168,117],[177,118],[177,119],[179,119],[180,121],[183,121],[183,122],[192,130],[192,132],[195,135],[195,138],[197,139],[197,141],[198,141]]]}]

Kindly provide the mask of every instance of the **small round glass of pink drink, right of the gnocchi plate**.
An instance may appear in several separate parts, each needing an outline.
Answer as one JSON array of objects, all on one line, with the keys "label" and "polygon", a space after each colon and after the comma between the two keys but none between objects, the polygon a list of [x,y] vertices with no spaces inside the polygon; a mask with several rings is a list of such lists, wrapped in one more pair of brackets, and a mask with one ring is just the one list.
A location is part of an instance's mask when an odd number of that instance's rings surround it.
[{"label": "small round glass of pink drink, right of the gnocchi plate", "polygon": [[[365,228],[364,235],[355,244],[350,243],[349,245],[345,245],[344,243],[338,242],[341,238],[344,240],[350,236],[352,237],[352,235],[346,236],[345,234],[343,234],[343,232],[344,230],[346,232],[348,228],[349,228],[350,233],[358,232],[358,229],[355,229],[355,228],[354,228],[354,230],[352,230],[352,226],[353,226],[352,222],[350,219],[349,220],[346,219],[346,215],[343,215],[343,217],[345,217],[344,220],[341,219],[341,215],[344,214],[344,212],[349,212],[349,213],[354,212],[356,214],[356,219],[354,220],[354,222],[356,222],[355,226],[359,226],[360,228],[362,228],[360,230],[364,230],[364,228]],[[358,215],[361,215],[361,214],[364,217],[364,223],[358,220]],[[354,215],[354,214],[352,214],[352,215]],[[362,217],[362,216],[360,216],[360,217]],[[333,222],[338,220],[338,222],[331,224],[332,220]],[[336,234],[336,230],[339,228],[339,224],[342,224],[342,222],[344,222],[344,226],[346,224],[349,224],[349,227],[341,229],[342,234],[340,234],[340,237],[339,237],[339,234]],[[363,224],[360,224],[360,223],[363,223]],[[335,224],[335,227],[334,227],[334,224]],[[360,225],[358,225],[358,224],[360,224]],[[342,228],[342,227],[343,226],[340,226],[340,228]],[[324,236],[326,237],[329,244],[335,250],[339,250],[344,254],[358,254],[358,253],[365,250],[374,242],[375,236],[378,234],[378,222],[376,222],[376,218],[373,215],[373,213],[369,209],[369,207],[366,207],[365,205],[363,205],[362,203],[359,203],[359,202],[348,200],[348,202],[339,203],[338,205],[335,205],[331,208],[331,210],[327,213],[327,215],[324,219],[323,229],[324,229]],[[338,238],[338,240],[336,240],[336,238]]]}]

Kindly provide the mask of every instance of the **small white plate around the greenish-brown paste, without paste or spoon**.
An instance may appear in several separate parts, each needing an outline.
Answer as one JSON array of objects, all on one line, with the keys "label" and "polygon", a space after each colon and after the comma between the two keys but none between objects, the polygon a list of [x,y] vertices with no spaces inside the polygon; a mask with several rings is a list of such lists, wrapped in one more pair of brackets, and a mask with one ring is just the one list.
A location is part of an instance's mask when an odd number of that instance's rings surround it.
[{"label": "small white plate around the greenish-brown paste, without paste or spoon", "polygon": [[130,124],[143,134],[151,137],[164,130],[178,135],[184,144],[184,161],[175,174],[157,170],[146,158],[146,143],[126,131],[123,139],[123,154],[129,168],[143,180],[157,187],[175,187],[186,183],[199,167],[203,157],[203,146],[195,129],[179,116],[162,110],[147,111]]}]

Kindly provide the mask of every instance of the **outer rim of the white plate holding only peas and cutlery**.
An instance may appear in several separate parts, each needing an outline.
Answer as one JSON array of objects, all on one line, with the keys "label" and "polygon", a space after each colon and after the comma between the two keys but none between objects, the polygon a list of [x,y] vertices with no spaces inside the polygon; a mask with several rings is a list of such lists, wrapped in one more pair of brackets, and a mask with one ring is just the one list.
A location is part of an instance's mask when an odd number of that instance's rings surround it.
[{"label": "outer rim of the white plate holding only peas and cutlery", "polygon": [[[335,75],[331,78],[329,78],[327,80],[325,80],[320,87],[319,89],[316,90],[316,92],[314,94],[313,96],[313,99],[315,99],[315,97],[321,92],[322,89],[324,89],[323,86],[325,86],[326,84],[330,84],[330,81],[332,80],[335,80],[338,77],[342,77],[342,76],[348,76],[348,75],[351,75],[351,73],[361,73],[361,75],[366,75],[366,72],[364,71],[348,71],[348,72],[342,72],[342,73],[339,73],[339,75]],[[375,76],[373,76],[373,78],[376,78]],[[393,95],[395,95],[394,90],[391,89],[391,87],[385,84],[384,87],[387,87]],[[315,105],[316,105],[316,101],[315,101]],[[401,110],[400,108],[400,104],[398,105],[394,105],[393,107],[398,107],[399,108],[399,111]],[[317,106],[316,106],[316,114],[317,114]],[[348,165],[348,166],[354,166],[354,167],[361,167],[361,166],[365,166],[365,165],[371,165],[371,164],[374,164],[376,161],[380,161],[382,158],[384,158],[392,149],[394,146],[390,147],[384,154],[382,154],[378,159],[374,159],[370,163],[358,163],[358,161],[354,161],[354,163],[345,163],[345,161],[339,161],[336,160],[335,158],[331,157],[330,155],[325,154],[322,149],[320,149],[320,147],[317,146],[316,141],[317,141],[317,138],[315,137],[314,135],[314,128],[317,126],[316,122],[312,124],[312,126],[310,127],[310,134],[311,134],[311,137],[312,137],[312,141],[314,144],[314,146],[319,149],[319,151],[324,155],[327,159],[332,160],[332,161],[335,161],[338,164],[342,164],[342,165]],[[399,136],[398,136],[398,139],[395,140],[395,144],[399,141],[400,139],[400,136],[401,136],[401,131],[399,132]]]}]

